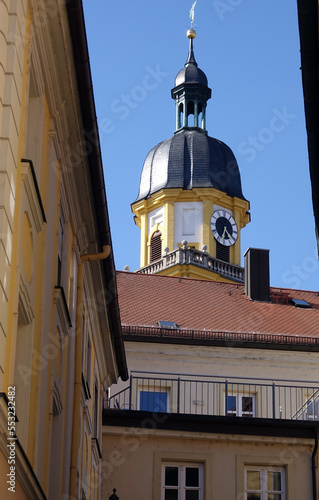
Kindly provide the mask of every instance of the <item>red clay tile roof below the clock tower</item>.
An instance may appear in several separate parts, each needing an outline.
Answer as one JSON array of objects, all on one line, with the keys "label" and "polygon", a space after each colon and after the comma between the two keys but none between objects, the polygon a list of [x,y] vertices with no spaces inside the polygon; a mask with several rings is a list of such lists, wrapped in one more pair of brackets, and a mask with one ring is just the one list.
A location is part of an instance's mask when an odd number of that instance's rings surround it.
[{"label": "red clay tile roof below the clock tower", "polygon": [[[319,294],[271,287],[270,303],[250,300],[244,285],[170,276],[117,272],[122,325],[319,337]],[[291,300],[306,300],[311,309]]]}]

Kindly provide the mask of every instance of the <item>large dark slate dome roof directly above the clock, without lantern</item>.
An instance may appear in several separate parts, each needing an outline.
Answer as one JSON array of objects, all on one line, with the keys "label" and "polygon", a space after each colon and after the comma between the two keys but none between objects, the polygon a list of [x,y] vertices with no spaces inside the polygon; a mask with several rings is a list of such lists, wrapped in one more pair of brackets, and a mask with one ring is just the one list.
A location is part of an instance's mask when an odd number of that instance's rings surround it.
[{"label": "large dark slate dome roof directly above the clock, without lantern", "polygon": [[166,188],[213,187],[245,199],[232,150],[199,128],[184,128],[146,156],[136,201]]}]

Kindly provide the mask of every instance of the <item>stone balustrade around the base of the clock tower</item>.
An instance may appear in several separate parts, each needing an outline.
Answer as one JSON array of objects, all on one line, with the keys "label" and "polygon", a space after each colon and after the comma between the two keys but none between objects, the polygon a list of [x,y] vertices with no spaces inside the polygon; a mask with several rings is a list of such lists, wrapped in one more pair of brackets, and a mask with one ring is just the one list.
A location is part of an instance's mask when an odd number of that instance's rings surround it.
[{"label": "stone balustrade around the base of the clock tower", "polygon": [[205,251],[188,248],[187,242],[184,243],[181,248],[165,253],[161,259],[138,269],[136,272],[156,274],[172,266],[192,264],[193,266],[217,273],[223,278],[244,283],[245,271],[243,267],[215,259]]}]

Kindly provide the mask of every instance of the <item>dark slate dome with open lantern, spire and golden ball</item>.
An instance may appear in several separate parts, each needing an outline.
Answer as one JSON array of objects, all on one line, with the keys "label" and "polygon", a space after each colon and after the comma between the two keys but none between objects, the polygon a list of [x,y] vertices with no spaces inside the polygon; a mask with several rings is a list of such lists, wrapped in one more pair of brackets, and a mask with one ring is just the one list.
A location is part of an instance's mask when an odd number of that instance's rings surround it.
[{"label": "dark slate dome with open lantern, spire and golden ball", "polygon": [[195,60],[196,32],[188,30],[187,36],[190,39],[188,57],[171,93],[176,103],[176,130],[173,137],[148,153],[136,201],[147,199],[160,189],[207,187],[245,199],[233,152],[207,134],[206,105],[211,89]]}]

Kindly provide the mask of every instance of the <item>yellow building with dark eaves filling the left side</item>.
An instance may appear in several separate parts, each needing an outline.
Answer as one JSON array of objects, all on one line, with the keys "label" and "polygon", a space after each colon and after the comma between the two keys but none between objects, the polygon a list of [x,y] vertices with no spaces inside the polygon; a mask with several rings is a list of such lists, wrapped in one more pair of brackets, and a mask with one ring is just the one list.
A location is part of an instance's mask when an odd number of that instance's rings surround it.
[{"label": "yellow building with dark eaves filling the left side", "polygon": [[127,368],[82,4],[0,12],[0,496],[98,499]]}]

